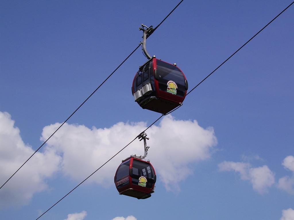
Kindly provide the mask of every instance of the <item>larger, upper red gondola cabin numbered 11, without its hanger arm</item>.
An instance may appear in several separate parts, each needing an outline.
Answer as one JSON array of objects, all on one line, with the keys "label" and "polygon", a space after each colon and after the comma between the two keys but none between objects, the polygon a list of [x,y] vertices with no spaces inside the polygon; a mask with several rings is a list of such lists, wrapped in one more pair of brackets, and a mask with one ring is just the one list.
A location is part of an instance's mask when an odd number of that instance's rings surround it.
[{"label": "larger, upper red gondola cabin numbered 11, without its hanger arm", "polygon": [[174,64],[152,57],[139,67],[132,93],[143,108],[166,114],[180,106],[188,90],[184,73]]}]

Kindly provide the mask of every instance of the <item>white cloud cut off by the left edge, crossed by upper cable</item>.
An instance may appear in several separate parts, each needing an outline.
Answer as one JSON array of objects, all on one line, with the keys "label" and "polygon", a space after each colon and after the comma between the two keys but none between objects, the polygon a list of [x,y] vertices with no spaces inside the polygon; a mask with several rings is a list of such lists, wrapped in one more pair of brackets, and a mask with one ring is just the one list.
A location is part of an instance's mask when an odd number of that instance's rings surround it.
[{"label": "white cloud cut off by the left edge, crossed by upper cable", "polygon": [[[7,112],[0,112],[0,184],[34,153],[20,136]],[[0,207],[27,204],[33,194],[47,188],[45,179],[57,171],[61,157],[52,148],[37,152],[0,190]]]}]

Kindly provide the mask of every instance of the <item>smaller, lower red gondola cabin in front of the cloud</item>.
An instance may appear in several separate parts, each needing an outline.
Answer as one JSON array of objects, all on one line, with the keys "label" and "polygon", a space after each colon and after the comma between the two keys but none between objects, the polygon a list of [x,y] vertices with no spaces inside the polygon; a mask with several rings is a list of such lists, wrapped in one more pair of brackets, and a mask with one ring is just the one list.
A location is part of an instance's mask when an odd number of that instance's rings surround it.
[{"label": "smaller, lower red gondola cabin in front of the cloud", "polygon": [[150,162],[129,157],[117,168],[114,182],[119,194],[147,199],[154,192],[156,174]]}]

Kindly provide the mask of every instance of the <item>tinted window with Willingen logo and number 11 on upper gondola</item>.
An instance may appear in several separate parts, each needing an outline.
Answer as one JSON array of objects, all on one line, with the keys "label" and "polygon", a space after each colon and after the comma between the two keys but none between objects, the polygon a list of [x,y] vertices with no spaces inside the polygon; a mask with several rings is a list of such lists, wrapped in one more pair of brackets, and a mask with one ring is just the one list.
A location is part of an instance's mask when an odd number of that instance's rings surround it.
[{"label": "tinted window with Willingen logo and number 11 on upper gondola", "polygon": [[[159,90],[183,97],[185,94],[185,78],[178,67],[161,60],[156,60]],[[168,85],[168,82],[172,81]],[[176,86],[173,84],[176,83]]]}]

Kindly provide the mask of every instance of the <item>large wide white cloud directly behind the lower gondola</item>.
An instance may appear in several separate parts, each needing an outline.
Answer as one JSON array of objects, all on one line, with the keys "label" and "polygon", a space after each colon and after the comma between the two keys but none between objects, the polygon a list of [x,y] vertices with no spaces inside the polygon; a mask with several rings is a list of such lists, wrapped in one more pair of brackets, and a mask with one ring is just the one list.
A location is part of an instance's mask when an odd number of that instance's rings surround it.
[{"label": "large wide white cloud directly behind the lower gondola", "polygon": [[[59,126],[60,123],[56,123],[44,127],[41,140],[46,140]],[[80,181],[145,128],[144,122],[119,122],[110,128],[91,129],[66,123],[47,143],[63,155],[63,172]],[[197,121],[176,120],[171,116],[165,116],[159,126],[153,125],[147,133],[150,138],[147,141],[150,146],[147,159],[151,160],[158,179],[167,190],[179,190],[179,183],[193,172],[188,165],[210,158],[211,150],[217,143],[213,128],[204,129]],[[105,187],[113,185],[113,176],[121,160],[131,154],[143,153],[143,141],[134,141],[88,182]]]}]

